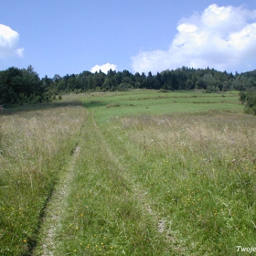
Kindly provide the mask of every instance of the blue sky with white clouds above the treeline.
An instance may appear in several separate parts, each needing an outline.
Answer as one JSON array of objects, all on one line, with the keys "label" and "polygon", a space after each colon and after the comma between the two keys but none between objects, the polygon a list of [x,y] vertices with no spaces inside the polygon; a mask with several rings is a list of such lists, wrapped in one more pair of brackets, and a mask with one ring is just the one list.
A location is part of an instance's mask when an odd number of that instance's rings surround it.
[{"label": "blue sky with white clouds above the treeline", "polygon": [[255,0],[0,0],[0,70],[256,69]]}]

